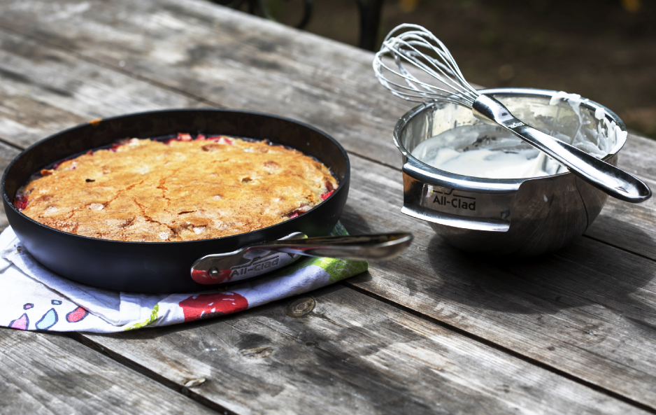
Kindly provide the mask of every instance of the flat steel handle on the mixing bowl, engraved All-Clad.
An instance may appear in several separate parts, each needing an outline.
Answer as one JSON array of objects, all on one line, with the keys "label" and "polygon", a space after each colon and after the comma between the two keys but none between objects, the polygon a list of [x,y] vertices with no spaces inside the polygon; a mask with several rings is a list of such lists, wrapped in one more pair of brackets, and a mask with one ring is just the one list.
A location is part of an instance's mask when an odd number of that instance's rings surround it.
[{"label": "flat steel handle on the mixing bowl, engraved All-Clad", "polygon": [[[471,230],[506,232],[521,181],[476,181],[406,158],[402,213],[428,222]],[[504,181],[507,182],[507,181]]]}]

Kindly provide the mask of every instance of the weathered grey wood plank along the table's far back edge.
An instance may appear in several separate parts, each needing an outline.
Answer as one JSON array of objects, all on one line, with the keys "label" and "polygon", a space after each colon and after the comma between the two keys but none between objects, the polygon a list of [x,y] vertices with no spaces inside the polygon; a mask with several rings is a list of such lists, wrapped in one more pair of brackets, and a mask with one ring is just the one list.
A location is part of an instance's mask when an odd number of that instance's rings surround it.
[{"label": "weathered grey wood plank along the table's far back edge", "polygon": [[392,126],[413,104],[378,84],[371,52],[204,1],[10,1],[0,25],[221,106],[306,121],[399,165]]}]

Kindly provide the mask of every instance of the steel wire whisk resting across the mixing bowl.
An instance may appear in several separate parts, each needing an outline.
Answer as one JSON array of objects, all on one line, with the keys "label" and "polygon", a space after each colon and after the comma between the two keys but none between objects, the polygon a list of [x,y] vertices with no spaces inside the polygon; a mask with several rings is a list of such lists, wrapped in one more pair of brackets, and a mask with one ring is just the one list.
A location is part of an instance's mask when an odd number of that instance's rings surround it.
[{"label": "steel wire whisk resting across the mixing bowl", "polygon": [[[394,58],[397,68],[385,64],[386,56]],[[438,80],[438,85],[418,79],[408,71],[413,67]],[[401,24],[392,29],[373,59],[373,70],[378,81],[397,97],[465,106],[476,118],[512,132],[608,195],[633,203],[651,196],[647,185],[635,176],[534,129],[515,118],[497,99],[479,94],[464,79],[446,46],[424,27]]]}]

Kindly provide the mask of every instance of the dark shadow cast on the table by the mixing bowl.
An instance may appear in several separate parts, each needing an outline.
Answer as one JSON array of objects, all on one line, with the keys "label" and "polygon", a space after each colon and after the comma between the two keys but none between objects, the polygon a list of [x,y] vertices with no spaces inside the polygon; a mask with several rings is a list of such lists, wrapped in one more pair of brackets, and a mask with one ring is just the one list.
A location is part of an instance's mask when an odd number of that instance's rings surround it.
[{"label": "dark shadow cast on the table by the mixing bowl", "polygon": [[[638,227],[624,226],[644,234]],[[656,276],[653,262],[610,255],[599,262],[598,255],[590,255],[596,245],[581,237],[537,258],[485,258],[457,251],[436,235],[429,244],[435,253],[431,265],[440,270],[448,266],[449,274],[459,276],[459,288],[445,287],[452,284],[445,280],[434,289],[455,302],[515,314],[557,314],[561,309],[622,302],[641,318],[650,314],[656,321],[656,309],[632,297]]]}]

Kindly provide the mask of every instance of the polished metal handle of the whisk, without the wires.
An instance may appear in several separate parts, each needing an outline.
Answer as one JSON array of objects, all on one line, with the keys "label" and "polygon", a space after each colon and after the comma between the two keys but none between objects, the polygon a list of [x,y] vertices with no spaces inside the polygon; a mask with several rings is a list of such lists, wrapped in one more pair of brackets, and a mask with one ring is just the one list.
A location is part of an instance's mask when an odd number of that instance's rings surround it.
[{"label": "polished metal handle of the whisk, without the wires", "polygon": [[608,195],[632,203],[644,202],[651,196],[651,191],[639,178],[526,125],[515,118],[504,104],[490,96],[480,95],[474,101],[472,111],[477,118],[501,125],[520,139],[539,148],[567,167],[573,174]]}]

